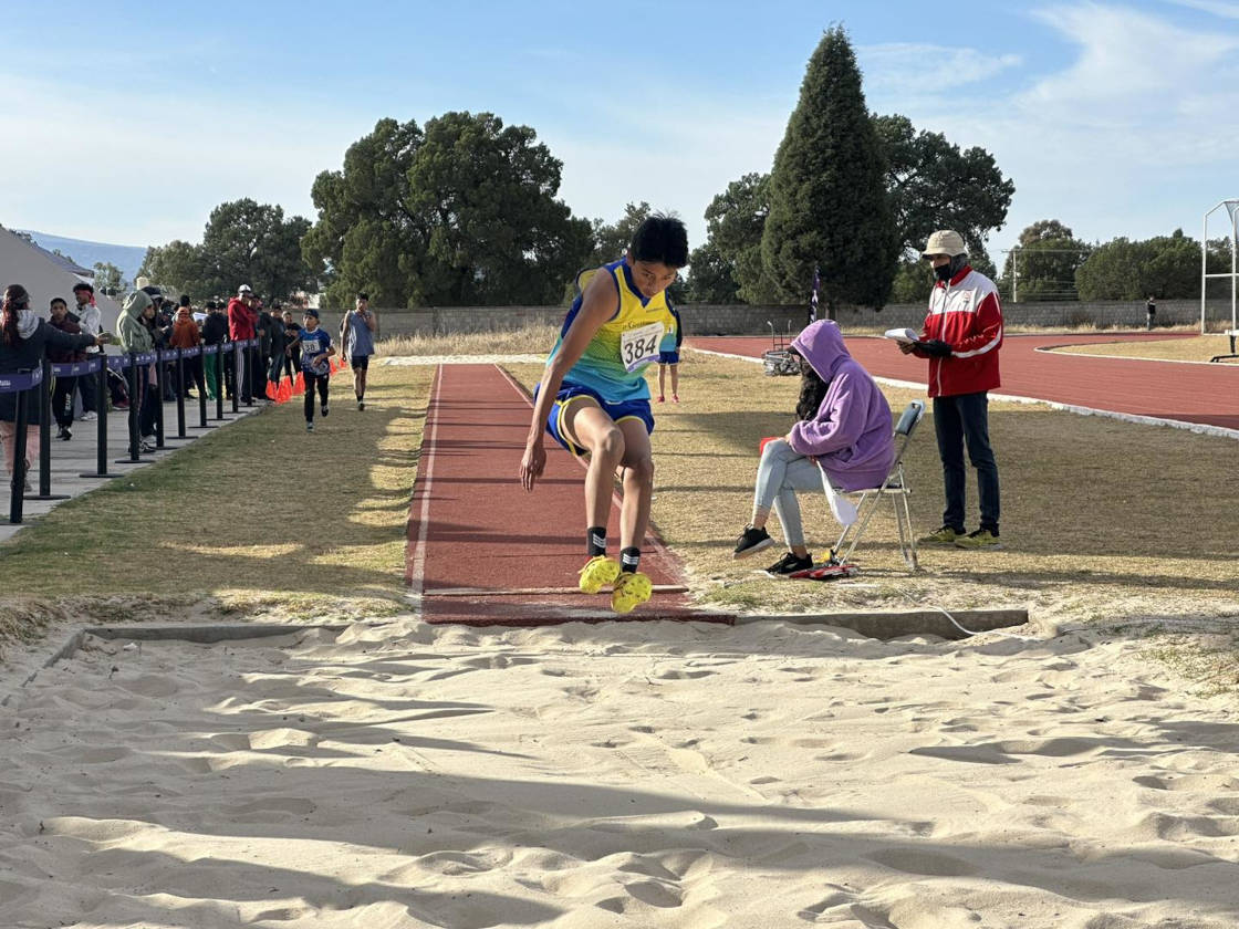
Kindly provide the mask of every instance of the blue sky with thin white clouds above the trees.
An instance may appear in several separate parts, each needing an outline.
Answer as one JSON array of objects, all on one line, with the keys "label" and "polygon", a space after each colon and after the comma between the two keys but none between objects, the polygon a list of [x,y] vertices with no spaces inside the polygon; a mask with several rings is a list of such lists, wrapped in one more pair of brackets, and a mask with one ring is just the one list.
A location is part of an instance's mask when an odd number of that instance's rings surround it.
[{"label": "blue sky with thin white clouds above the trees", "polygon": [[696,245],[711,197],[769,170],[834,24],[870,109],[980,145],[1015,181],[995,258],[1043,218],[1087,240],[1198,237],[1239,197],[1239,0],[10,0],[0,224],[197,242],[239,197],[313,219],[313,177],[378,119],[467,109],[533,126],[575,214],[646,199]]}]

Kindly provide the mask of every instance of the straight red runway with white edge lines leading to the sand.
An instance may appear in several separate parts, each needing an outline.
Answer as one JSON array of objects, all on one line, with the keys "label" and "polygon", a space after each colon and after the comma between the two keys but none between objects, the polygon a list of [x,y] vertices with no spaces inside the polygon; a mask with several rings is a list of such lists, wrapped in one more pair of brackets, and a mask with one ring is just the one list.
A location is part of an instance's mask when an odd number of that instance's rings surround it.
[{"label": "straight red runway with white edge lines leading to the sand", "polygon": [[[533,406],[493,364],[440,365],[431,385],[409,513],[405,580],[430,623],[546,626],[600,619],[712,619],[684,596],[678,559],[653,535],[641,570],[653,598],[627,616],[610,592],[576,588],[585,564],[585,471],[546,438],[546,472],[533,493],[518,469]],[[618,540],[612,503],[610,538]],[[615,549],[616,545],[613,544]]]}]

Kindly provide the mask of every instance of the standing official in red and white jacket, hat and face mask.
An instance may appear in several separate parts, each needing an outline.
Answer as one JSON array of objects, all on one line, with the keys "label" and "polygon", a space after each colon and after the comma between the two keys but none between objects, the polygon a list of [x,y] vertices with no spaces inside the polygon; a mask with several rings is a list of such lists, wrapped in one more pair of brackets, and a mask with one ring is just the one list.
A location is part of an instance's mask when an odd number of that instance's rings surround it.
[{"label": "standing official in red and white jacket, hat and face mask", "polygon": [[[933,265],[929,313],[921,339],[900,351],[929,359],[929,396],[938,434],[947,508],[942,528],[922,543],[995,549],[999,541],[999,466],[990,447],[989,391],[999,386],[1002,307],[999,290],[968,264],[964,238],[950,229],[929,237],[922,258]],[[976,468],[980,528],[964,529],[964,445]]]}]

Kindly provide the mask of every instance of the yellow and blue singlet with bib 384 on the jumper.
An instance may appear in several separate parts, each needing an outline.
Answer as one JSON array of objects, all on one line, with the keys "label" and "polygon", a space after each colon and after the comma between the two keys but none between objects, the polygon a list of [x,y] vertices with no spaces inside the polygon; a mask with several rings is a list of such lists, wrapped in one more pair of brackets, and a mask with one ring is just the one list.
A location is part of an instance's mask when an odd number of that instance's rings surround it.
[{"label": "yellow and blue singlet with bib 384 on the jumper", "polygon": [[577,275],[579,294],[546,360],[550,362],[564,344],[564,336],[581,310],[586,285],[601,273],[615,279],[620,289],[620,306],[590,339],[580,360],[564,375],[564,385],[580,384],[611,403],[648,400],[649,385],[643,370],[658,360],[660,351],[675,351],[676,320],[667,302],[667,291],[649,299],[642,296],[632,279],[632,269],[623,259]]}]

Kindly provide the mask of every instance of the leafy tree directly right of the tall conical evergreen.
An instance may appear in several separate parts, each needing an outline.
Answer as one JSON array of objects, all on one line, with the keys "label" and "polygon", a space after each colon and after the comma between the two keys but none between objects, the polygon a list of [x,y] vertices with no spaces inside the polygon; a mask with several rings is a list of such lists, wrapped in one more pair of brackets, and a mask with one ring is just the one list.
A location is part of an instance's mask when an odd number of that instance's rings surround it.
[{"label": "leafy tree directly right of the tall conical evergreen", "polygon": [[919,255],[935,229],[954,229],[970,256],[984,255],[986,237],[1002,228],[1015,194],[994,156],[978,146],[960,150],[940,133],[918,133],[907,116],[875,115],[873,128],[902,254]]}]

